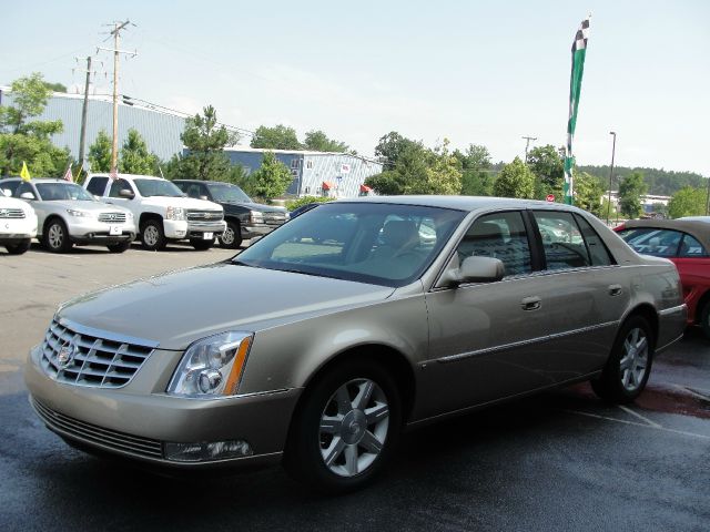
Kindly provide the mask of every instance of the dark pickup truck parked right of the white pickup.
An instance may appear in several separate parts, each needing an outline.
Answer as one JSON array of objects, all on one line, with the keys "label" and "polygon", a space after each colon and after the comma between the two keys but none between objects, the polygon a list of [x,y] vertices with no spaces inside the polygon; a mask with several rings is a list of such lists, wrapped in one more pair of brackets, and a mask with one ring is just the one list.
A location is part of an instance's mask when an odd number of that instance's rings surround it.
[{"label": "dark pickup truck parked right of the white pickup", "polygon": [[242,188],[231,183],[200,180],[175,180],[173,183],[190,197],[222,205],[226,222],[226,231],[217,237],[222,247],[240,247],[244,238],[266,235],[288,219],[284,207],[254,203]]}]

